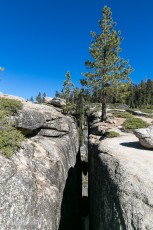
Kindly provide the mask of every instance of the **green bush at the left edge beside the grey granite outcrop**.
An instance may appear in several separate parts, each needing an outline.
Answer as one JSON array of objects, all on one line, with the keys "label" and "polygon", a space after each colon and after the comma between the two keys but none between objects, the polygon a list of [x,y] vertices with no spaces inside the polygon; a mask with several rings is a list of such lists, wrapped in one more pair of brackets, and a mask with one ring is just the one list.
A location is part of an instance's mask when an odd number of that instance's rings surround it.
[{"label": "green bush at the left edge beside the grey granite outcrop", "polygon": [[21,107],[20,101],[0,98],[0,152],[6,157],[11,157],[24,141],[24,136],[13,127],[9,118]]}]

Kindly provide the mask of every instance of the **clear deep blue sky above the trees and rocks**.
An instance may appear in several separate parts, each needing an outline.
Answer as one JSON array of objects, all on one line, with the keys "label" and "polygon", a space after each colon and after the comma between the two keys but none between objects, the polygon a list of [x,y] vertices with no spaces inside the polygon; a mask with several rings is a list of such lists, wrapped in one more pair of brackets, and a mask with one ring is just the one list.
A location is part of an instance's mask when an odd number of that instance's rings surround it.
[{"label": "clear deep blue sky above the trees and rocks", "polygon": [[121,56],[135,69],[133,81],[153,79],[152,0],[1,0],[0,91],[54,96],[67,70],[78,86],[104,5],[122,31]]}]

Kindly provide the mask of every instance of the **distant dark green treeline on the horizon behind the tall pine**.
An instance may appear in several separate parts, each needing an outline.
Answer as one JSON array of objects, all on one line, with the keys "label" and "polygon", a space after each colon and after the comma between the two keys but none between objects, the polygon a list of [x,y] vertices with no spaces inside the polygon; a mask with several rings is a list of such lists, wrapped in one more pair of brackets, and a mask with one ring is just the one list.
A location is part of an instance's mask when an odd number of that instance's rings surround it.
[{"label": "distant dark green treeline on the horizon behind the tall pine", "polygon": [[[80,94],[83,95],[86,102],[100,103],[101,92],[98,88],[92,93],[86,89],[81,91],[79,88],[73,88],[69,90],[69,93],[64,93],[63,90],[62,92],[56,91],[55,96],[65,98],[70,103],[77,104]],[[147,81],[141,81],[139,84],[131,84],[127,94],[124,94],[124,97],[121,97],[121,95],[121,92],[119,94],[108,92],[107,103],[125,103],[131,108],[149,108],[153,105],[153,80],[148,79]]]}]

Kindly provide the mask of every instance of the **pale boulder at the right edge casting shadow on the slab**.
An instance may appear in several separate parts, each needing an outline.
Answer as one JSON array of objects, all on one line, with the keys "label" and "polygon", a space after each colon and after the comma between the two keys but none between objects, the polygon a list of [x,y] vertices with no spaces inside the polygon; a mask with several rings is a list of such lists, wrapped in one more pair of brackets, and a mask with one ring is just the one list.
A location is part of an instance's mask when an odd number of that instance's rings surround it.
[{"label": "pale boulder at the right edge casting shadow on the slab", "polygon": [[139,138],[139,142],[142,146],[149,149],[153,148],[153,126],[143,129],[136,129],[134,134]]}]

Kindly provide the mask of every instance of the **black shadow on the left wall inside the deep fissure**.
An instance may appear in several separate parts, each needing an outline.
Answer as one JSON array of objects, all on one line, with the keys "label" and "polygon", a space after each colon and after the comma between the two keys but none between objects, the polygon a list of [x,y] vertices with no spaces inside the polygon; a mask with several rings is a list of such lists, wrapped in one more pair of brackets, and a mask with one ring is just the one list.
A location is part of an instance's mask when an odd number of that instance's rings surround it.
[{"label": "black shadow on the left wall inside the deep fissure", "polygon": [[79,230],[82,228],[81,199],[81,160],[77,154],[74,168],[70,168],[61,206],[61,220],[58,230]]}]

